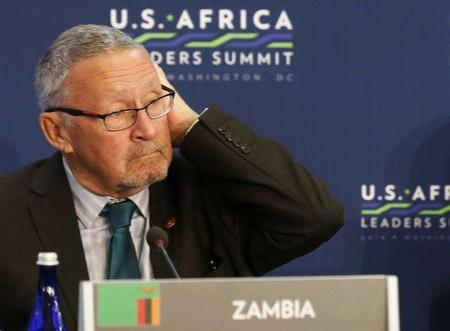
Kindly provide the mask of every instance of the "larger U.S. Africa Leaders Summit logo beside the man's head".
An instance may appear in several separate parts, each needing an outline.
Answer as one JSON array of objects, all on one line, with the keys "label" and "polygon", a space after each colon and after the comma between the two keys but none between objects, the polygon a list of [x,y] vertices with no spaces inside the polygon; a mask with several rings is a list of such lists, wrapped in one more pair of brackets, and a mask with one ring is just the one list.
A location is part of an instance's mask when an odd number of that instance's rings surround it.
[{"label": "larger U.S. Africa Leaders Summit logo beside the man's head", "polygon": [[171,80],[294,81],[294,25],[285,9],[112,8],[109,17]]}]

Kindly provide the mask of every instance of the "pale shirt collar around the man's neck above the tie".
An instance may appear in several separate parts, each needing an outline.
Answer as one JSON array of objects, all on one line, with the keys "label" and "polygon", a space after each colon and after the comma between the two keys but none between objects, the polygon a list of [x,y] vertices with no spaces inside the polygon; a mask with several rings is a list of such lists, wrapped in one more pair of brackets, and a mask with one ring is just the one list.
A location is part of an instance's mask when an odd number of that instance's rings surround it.
[{"label": "pale shirt collar around the man's neck above the tie", "polygon": [[[95,194],[81,185],[72,173],[66,158],[63,156],[64,170],[69,181],[70,189],[73,193],[75,211],[78,218],[86,228],[91,228],[93,222],[100,215],[105,205],[109,202],[116,201],[117,199],[110,196],[102,196]],[[149,216],[149,199],[150,192],[148,189],[144,189],[139,193],[136,193],[128,197],[137,206],[137,211],[145,218]]]}]

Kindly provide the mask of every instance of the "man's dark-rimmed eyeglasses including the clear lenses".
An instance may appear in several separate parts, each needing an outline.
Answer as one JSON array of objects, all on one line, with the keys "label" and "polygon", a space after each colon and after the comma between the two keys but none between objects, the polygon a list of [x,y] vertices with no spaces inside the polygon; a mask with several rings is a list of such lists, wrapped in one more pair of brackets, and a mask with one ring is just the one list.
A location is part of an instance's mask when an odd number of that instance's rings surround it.
[{"label": "man's dark-rimmed eyeglasses including the clear lenses", "polygon": [[145,112],[151,119],[157,119],[167,115],[167,113],[172,109],[173,99],[175,98],[175,91],[164,85],[161,85],[161,88],[168,93],[160,96],[155,100],[150,101],[147,106],[142,108],[123,109],[102,115],[71,108],[47,108],[46,110],[44,110],[44,112],[60,112],[69,114],[71,116],[88,116],[100,118],[103,120],[106,130],[121,131],[131,128],[136,123],[138,111],[145,109]]}]

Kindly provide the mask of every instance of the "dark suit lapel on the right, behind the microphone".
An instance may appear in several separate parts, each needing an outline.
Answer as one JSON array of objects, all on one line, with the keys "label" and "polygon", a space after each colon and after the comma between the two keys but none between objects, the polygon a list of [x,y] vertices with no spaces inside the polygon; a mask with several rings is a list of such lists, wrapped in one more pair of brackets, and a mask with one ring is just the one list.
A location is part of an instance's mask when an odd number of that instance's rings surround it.
[{"label": "dark suit lapel on the right, behind the microphone", "polygon": [[[170,244],[167,253],[177,268],[176,216],[169,175],[165,180],[150,186],[150,226],[159,226],[168,233]],[[173,278],[161,253],[153,248],[150,249],[150,260],[155,278]]]}]

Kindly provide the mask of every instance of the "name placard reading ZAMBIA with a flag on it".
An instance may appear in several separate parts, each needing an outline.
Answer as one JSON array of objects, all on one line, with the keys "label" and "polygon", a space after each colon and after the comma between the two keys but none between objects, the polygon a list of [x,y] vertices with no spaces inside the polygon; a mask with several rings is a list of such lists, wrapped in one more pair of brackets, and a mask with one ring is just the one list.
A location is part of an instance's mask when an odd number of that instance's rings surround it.
[{"label": "name placard reading ZAMBIA with a flag on it", "polygon": [[82,282],[79,330],[398,331],[396,276]]}]

